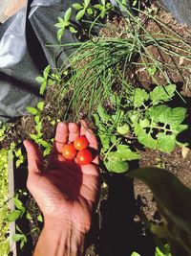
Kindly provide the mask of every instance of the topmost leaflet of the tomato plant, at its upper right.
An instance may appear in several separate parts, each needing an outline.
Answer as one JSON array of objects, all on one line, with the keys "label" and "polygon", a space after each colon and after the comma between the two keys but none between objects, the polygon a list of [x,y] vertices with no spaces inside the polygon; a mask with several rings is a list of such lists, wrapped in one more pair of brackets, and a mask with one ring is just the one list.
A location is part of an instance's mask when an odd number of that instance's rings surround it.
[{"label": "topmost leaflet of the tomato plant, at its upper right", "polygon": [[150,98],[152,100],[153,105],[158,105],[160,102],[169,101],[174,95],[176,91],[175,84],[168,84],[164,86],[157,86],[153,91],[150,92]]}]

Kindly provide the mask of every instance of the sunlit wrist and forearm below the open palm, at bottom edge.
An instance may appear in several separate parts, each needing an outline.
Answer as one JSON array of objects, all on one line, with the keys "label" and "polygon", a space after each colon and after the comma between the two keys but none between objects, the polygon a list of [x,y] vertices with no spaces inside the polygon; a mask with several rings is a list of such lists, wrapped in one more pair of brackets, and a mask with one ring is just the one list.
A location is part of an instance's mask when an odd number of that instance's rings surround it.
[{"label": "sunlit wrist and forearm below the open palm, at bottom edge", "polygon": [[82,256],[84,237],[69,224],[45,222],[33,256]]}]

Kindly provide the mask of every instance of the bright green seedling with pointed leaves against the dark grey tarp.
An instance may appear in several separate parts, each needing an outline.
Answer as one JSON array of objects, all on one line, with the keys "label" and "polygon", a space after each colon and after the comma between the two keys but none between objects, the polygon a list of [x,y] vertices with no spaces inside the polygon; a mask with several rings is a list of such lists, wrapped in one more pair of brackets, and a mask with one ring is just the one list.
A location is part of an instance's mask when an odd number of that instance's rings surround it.
[{"label": "bright green seedling with pointed leaves against the dark grey tarp", "polygon": [[71,33],[77,32],[70,21],[71,15],[72,15],[72,8],[69,8],[65,12],[64,18],[58,17],[58,22],[55,24],[55,27],[59,29],[57,31],[57,40],[59,42],[61,41],[62,35],[64,35],[64,32],[66,29],[69,29]]}]

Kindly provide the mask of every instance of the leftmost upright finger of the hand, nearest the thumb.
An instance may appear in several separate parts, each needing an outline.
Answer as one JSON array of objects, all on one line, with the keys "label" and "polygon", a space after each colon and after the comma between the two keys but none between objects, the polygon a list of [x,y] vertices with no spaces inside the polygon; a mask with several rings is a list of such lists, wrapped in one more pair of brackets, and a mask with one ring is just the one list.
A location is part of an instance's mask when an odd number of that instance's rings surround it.
[{"label": "leftmost upright finger of the hand, nearest the thumb", "polygon": [[62,152],[63,145],[68,142],[68,136],[68,125],[66,123],[59,123],[55,131],[52,154]]}]

